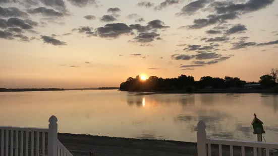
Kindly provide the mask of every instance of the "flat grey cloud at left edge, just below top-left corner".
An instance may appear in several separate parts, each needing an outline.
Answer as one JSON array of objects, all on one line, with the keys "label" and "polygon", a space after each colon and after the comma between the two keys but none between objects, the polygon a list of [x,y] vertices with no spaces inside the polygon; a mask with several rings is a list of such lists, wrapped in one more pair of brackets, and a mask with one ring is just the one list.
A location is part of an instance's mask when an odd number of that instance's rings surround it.
[{"label": "flat grey cloud at left edge, just below top-left corner", "polygon": [[[0,0],[1,1],[1,0]],[[18,8],[9,7],[9,8],[2,8],[0,7],[0,16],[3,17],[22,17],[28,18],[29,15]]]}]

